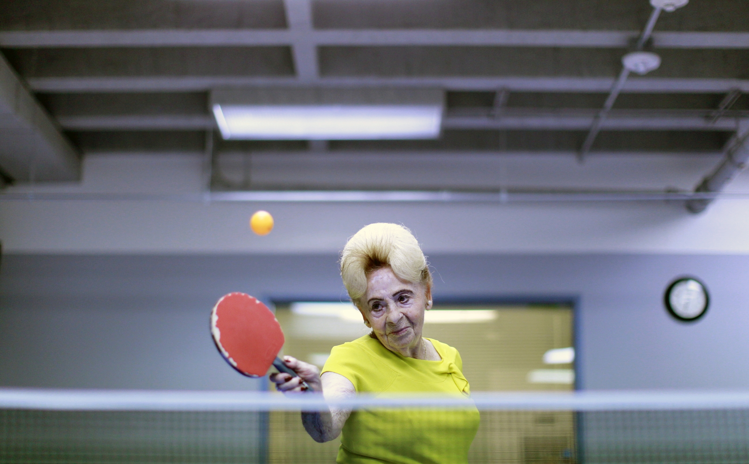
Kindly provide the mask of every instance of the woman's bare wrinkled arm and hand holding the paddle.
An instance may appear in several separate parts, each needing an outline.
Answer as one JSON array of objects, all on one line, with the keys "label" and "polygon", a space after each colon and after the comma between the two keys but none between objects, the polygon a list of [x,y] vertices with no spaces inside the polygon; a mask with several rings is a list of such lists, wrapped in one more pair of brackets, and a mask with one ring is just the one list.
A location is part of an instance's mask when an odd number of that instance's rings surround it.
[{"label": "woman's bare wrinkled arm and hand holding the paddle", "polygon": [[[297,373],[296,377],[286,373],[270,375],[270,381],[284,394],[300,394],[303,391],[302,381],[307,382],[310,390],[321,392],[326,400],[353,397],[357,393],[354,384],[340,374],[327,372],[321,376],[318,367],[291,356],[284,356],[283,362]],[[303,412],[302,424],[315,442],[330,442],[341,434],[349,415],[351,409],[330,406],[325,411]]]}]

